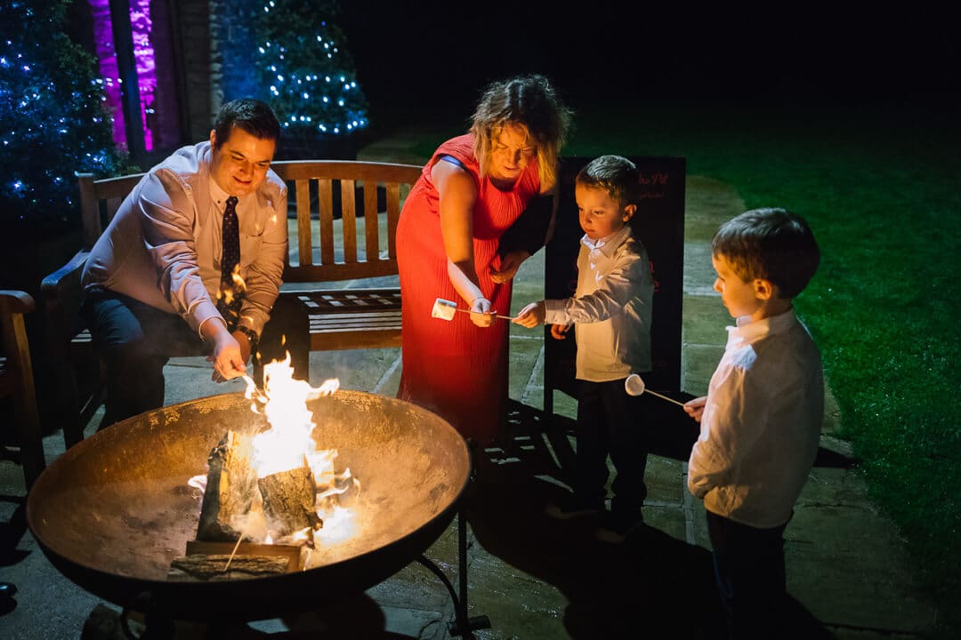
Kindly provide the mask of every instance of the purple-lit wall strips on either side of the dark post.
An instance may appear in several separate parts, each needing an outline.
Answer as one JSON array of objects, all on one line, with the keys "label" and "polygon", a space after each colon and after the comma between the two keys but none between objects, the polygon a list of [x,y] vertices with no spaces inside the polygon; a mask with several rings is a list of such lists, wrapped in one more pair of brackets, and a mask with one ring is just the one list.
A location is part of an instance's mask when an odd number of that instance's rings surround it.
[{"label": "purple-lit wall strips on either side of the dark post", "polygon": [[[88,0],[93,16],[93,37],[100,60],[100,75],[104,79],[107,106],[113,115],[113,141],[127,148],[124,129],[123,103],[120,96],[119,72],[113,48],[110,0]],[[157,67],[154,46],[150,41],[153,23],[150,19],[150,0],[130,0],[130,27],[134,36],[137,88],[140,94],[140,123],[144,148],[154,149],[151,125],[154,120],[154,99],[157,90]]]}]

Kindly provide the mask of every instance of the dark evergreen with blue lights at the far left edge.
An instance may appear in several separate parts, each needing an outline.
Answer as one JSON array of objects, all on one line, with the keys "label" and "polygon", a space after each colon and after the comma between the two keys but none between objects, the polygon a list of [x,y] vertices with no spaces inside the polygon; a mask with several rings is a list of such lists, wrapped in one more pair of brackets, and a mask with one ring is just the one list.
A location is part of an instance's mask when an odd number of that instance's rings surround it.
[{"label": "dark evergreen with blue lights at the far left edge", "polygon": [[64,33],[70,1],[0,4],[0,226],[17,237],[79,228],[74,172],[123,161],[95,59]]}]

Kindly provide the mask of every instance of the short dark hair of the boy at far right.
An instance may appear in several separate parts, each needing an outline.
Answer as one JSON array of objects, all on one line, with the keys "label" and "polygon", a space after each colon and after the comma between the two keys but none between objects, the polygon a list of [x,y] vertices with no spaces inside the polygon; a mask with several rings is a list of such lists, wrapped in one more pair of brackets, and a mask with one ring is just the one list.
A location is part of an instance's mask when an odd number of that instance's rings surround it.
[{"label": "short dark hair of the boy at far right", "polygon": [[821,261],[807,222],[778,208],[752,209],[727,221],[714,234],[711,251],[745,282],[770,280],[784,298],[798,296]]}]

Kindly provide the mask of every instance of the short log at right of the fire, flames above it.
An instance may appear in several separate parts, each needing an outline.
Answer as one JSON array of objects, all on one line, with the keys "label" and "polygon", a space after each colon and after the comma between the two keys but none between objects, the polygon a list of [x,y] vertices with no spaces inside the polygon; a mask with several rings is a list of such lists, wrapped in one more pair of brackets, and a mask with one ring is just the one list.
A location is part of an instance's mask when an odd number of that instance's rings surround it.
[{"label": "short log at right of the fire, flames above it", "polygon": [[259,478],[257,485],[263,510],[271,519],[270,528],[278,534],[289,535],[304,529],[316,531],[323,527],[315,506],[317,486],[306,463]]}]

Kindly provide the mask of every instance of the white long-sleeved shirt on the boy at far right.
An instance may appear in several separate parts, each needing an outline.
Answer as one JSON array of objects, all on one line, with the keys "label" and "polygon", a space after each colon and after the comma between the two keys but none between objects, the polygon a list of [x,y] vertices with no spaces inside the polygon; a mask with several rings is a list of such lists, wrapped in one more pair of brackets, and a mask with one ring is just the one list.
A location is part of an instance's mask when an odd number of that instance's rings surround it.
[{"label": "white long-sleeved shirt on the boy at far right", "polygon": [[727,327],[687,484],[704,508],[761,529],[791,518],[818,452],[821,353],[794,309]]}]

